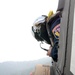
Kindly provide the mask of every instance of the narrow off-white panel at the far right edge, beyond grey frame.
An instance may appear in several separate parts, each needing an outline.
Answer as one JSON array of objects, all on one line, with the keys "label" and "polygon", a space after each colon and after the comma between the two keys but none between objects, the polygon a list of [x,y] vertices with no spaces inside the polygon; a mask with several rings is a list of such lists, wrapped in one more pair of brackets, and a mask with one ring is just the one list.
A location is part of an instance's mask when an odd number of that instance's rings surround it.
[{"label": "narrow off-white panel at the far right edge, beyond grey frame", "polygon": [[72,52],[70,71],[75,74],[75,5],[74,5],[74,20],[73,20],[73,35],[72,35]]}]

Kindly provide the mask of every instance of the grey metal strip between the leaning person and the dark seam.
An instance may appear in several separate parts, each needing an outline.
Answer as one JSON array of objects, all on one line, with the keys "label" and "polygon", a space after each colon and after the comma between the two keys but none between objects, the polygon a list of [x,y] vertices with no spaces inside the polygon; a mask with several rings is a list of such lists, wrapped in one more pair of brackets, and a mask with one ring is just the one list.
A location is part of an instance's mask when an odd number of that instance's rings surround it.
[{"label": "grey metal strip between the leaning person and the dark seam", "polygon": [[64,10],[61,19],[60,28],[60,40],[59,40],[59,51],[58,51],[58,62],[57,68],[59,69],[60,75],[64,73],[65,67],[65,56],[66,56],[66,45],[67,45],[67,28],[68,28],[68,17],[69,17],[69,6],[70,0],[65,0]]}]

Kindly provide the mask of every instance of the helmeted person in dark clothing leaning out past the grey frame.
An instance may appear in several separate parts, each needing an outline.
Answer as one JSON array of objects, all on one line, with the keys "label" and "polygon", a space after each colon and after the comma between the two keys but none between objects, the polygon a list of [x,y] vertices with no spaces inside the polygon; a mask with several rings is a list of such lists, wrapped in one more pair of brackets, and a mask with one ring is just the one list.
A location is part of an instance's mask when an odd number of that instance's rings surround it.
[{"label": "helmeted person in dark clothing leaning out past the grey frame", "polygon": [[37,18],[32,26],[32,33],[35,39],[37,41],[45,41],[50,45],[47,55],[52,57],[55,62],[58,60],[60,21],[60,11],[55,14],[50,11],[48,16],[41,15]]}]

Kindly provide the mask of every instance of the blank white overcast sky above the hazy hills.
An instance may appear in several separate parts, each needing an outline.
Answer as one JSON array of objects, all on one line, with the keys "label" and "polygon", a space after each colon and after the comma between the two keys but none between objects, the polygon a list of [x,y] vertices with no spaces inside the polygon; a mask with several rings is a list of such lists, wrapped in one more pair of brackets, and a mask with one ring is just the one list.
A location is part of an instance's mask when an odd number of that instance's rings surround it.
[{"label": "blank white overcast sky above the hazy hills", "polygon": [[37,17],[55,12],[57,5],[58,0],[0,0],[0,62],[47,57],[31,26]]}]

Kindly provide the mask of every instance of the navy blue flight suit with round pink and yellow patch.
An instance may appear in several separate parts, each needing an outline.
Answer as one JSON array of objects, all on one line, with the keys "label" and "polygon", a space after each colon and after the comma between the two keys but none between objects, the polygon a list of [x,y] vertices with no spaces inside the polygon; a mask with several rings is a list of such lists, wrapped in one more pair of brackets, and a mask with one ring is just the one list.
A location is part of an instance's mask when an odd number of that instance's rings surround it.
[{"label": "navy blue flight suit with round pink and yellow patch", "polygon": [[59,48],[58,44],[59,44],[59,36],[60,36],[60,18],[57,18],[52,22],[50,27],[50,32],[53,40],[53,47],[50,56],[53,58],[55,62],[57,62],[58,48]]}]

